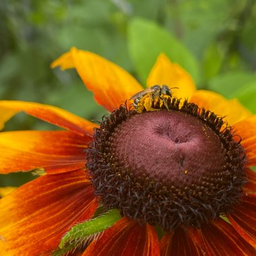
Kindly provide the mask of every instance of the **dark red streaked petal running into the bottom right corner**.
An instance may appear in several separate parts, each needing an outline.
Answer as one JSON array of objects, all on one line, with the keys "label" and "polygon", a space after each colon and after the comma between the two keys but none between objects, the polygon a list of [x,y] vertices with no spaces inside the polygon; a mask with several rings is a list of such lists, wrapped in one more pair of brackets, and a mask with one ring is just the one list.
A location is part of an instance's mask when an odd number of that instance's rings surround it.
[{"label": "dark red streaked petal running into the bottom right corner", "polygon": [[220,218],[190,232],[197,240],[203,255],[255,255],[255,249],[234,230],[232,225]]}]

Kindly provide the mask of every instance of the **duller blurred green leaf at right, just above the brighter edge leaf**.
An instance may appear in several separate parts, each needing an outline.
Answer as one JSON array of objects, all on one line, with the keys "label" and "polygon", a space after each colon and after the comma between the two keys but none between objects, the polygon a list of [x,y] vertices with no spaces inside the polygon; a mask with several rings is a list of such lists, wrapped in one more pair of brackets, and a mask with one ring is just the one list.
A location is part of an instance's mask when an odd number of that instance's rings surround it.
[{"label": "duller blurred green leaf at right, just above the brighter edge leaf", "polygon": [[238,95],[238,90],[243,91],[244,86],[255,80],[256,75],[254,73],[230,71],[210,79],[208,89],[218,92],[226,98],[234,98]]}]

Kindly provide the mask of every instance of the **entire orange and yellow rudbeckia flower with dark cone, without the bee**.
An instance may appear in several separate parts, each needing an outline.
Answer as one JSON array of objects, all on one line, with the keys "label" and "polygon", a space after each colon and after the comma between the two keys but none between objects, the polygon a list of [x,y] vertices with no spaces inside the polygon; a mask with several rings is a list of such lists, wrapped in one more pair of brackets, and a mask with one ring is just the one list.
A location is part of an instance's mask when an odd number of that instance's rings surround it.
[{"label": "entire orange and yellow rudbeckia flower with dark cone, without the bee", "polygon": [[2,255],[51,255],[99,205],[122,218],[83,255],[255,255],[256,115],[196,90],[163,54],[146,86],[179,89],[142,113],[129,102],[142,86],[114,63],[71,49],[57,66],[75,68],[110,115],[98,125],[55,106],[0,102],[2,127],[24,111],[65,129],[0,133],[1,173],[46,173],[0,200]]}]

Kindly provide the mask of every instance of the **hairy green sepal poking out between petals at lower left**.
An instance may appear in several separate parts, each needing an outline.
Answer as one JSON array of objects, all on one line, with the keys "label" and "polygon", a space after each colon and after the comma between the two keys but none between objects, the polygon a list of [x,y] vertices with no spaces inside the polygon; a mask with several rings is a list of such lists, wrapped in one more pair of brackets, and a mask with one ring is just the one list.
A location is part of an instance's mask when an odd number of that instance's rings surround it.
[{"label": "hairy green sepal poking out between petals at lower left", "polygon": [[57,249],[53,255],[63,255],[67,253],[67,251],[78,247],[86,238],[91,238],[106,228],[113,226],[120,218],[119,210],[113,209],[103,216],[73,226],[73,228],[63,236],[59,244],[60,249]]}]

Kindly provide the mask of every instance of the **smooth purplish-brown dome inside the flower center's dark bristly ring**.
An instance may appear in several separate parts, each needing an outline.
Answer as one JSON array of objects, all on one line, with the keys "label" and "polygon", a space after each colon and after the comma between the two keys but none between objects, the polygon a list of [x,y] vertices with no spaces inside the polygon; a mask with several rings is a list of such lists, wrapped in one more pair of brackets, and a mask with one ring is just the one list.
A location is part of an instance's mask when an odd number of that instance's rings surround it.
[{"label": "smooth purplish-brown dome inside the flower center's dark bristly ring", "polygon": [[113,134],[112,155],[135,175],[163,184],[192,185],[222,171],[220,139],[196,117],[179,111],[134,115]]}]

